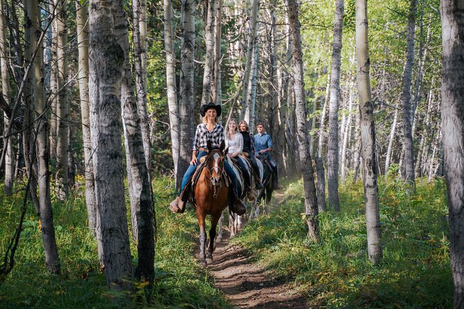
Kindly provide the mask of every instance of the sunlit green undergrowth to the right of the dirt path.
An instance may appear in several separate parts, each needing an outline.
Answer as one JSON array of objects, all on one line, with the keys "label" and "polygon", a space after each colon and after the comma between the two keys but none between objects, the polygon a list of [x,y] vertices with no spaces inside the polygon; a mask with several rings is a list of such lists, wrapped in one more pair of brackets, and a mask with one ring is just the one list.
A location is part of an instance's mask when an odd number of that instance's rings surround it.
[{"label": "sunlit green undergrowth to the right of the dirt path", "polygon": [[[320,213],[320,242],[307,240],[302,182],[286,186],[269,215],[248,222],[234,242],[307,295],[309,308],[452,308],[449,227],[442,179],[379,184],[379,265],[368,259],[361,181],[339,188],[341,212]],[[275,203],[276,204],[276,203]]]}]

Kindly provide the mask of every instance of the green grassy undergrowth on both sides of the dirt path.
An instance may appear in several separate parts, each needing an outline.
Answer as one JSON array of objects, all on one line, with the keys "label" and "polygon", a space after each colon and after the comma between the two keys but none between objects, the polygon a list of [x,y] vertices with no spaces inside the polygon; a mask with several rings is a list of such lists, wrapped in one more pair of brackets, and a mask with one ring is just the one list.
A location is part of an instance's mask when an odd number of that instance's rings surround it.
[{"label": "green grassy undergrowth on both sides of the dirt path", "polygon": [[[417,192],[408,195],[395,177],[379,181],[384,249],[379,265],[372,265],[367,256],[362,183],[353,185],[350,180],[339,189],[341,212],[319,215],[318,244],[307,240],[301,181],[286,184],[285,200],[275,211],[249,222],[233,242],[298,286],[308,307],[451,308],[445,185],[441,179],[430,184],[419,179]],[[167,186],[166,179],[153,184],[158,233],[156,284],[149,297],[144,283],[135,282],[135,290],[127,293],[107,288],[96,242],[86,228],[80,187],[65,203],[53,199],[62,274],[45,270],[40,225],[29,205],[15,269],[0,288],[0,308],[230,308],[194,257],[198,238],[194,212],[170,213],[166,206],[173,195]],[[22,192],[0,195],[2,253],[15,229],[21,201]],[[131,249],[136,263],[133,243]]]}]

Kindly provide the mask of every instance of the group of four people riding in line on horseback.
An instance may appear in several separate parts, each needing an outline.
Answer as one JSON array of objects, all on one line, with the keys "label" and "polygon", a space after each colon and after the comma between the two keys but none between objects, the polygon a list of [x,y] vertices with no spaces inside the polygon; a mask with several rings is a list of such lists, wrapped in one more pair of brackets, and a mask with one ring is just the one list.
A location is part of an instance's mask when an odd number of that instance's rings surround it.
[{"label": "group of four people riding in line on horseback", "polygon": [[[188,200],[188,197],[183,194],[184,189],[194,175],[200,158],[208,154],[208,141],[216,147],[219,147],[225,141],[225,145],[228,148],[224,168],[234,188],[229,202],[232,212],[242,214],[244,209],[246,209],[245,204],[240,199],[237,175],[232,168],[232,164],[236,164],[236,166],[241,168],[244,180],[243,187],[246,189],[245,191],[251,193],[253,187],[261,189],[263,186],[259,177],[260,172],[257,163],[257,157],[263,157],[263,159],[268,161],[273,170],[273,188],[281,188],[278,182],[277,164],[270,155],[270,152],[273,150],[273,141],[270,135],[264,131],[264,125],[258,123],[257,134],[253,135],[246,121],[242,120],[237,125],[237,121],[230,119],[227,121],[226,131],[224,132],[224,127],[219,123],[218,118],[221,116],[221,111],[221,105],[214,103],[205,104],[200,107],[200,115],[203,117],[203,122],[196,127],[190,165],[182,178],[179,196],[169,206],[171,211],[175,213],[184,212],[185,204]],[[250,169],[247,166],[252,166],[252,168]]]}]

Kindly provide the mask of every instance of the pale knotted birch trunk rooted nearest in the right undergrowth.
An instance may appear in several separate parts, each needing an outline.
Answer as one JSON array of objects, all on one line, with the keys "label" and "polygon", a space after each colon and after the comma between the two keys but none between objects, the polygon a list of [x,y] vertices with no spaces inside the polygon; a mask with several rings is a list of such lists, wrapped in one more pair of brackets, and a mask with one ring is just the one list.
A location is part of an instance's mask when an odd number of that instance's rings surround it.
[{"label": "pale knotted birch trunk rooted nearest in the right undergrowth", "polygon": [[379,220],[379,189],[375,159],[374,106],[370,92],[367,0],[356,0],[356,51],[358,69],[359,112],[363,148],[364,201],[368,233],[368,254],[372,263],[382,257]]}]

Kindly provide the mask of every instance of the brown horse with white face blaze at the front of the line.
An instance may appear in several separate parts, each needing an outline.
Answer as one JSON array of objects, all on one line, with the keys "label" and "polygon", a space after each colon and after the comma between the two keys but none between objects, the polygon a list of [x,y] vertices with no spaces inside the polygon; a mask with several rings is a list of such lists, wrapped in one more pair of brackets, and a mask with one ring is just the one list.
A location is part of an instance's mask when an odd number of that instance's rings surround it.
[{"label": "brown horse with white face blaze at the front of the line", "polygon": [[[200,227],[200,263],[207,265],[207,259],[213,259],[213,251],[216,241],[216,227],[222,211],[229,204],[229,190],[232,184],[228,184],[227,173],[224,168],[224,159],[227,149],[224,151],[224,142],[220,148],[213,148],[211,143],[207,145],[208,154],[200,164],[196,173],[200,173],[194,188],[193,205],[196,207],[196,218]],[[232,188],[233,190],[233,188]],[[206,249],[205,218],[211,215],[211,229],[209,229],[209,248]]]}]

